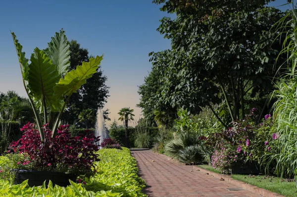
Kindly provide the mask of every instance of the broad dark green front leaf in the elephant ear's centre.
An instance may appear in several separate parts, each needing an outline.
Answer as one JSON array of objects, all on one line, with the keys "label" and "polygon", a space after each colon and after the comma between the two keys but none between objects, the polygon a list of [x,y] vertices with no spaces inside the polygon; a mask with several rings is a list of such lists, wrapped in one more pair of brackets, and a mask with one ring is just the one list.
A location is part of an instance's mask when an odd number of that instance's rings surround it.
[{"label": "broad dark green front leaf in the elephant ear's centre", "polygon": [[39,107],[42,107],[41,103],[45,99],[51,111],[58,111],[61,107],[61,100],[53,95],[53,87],[60,78],[57,67],[51,63],[48,55],[38,48],[34,50],[30,61],[28,76],[30,94]]}]

